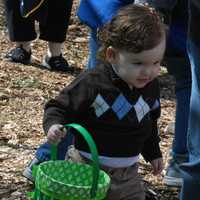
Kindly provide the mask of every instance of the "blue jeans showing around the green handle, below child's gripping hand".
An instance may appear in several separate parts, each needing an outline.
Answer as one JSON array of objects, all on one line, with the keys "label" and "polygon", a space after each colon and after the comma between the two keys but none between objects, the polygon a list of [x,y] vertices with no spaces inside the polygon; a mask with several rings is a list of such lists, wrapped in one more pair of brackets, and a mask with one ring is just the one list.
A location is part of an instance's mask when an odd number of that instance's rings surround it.
[{"label": "blue jeans showing around the green handle, below child's gripping hand", "polygon": [[[65,154],[67,152],[68,146],[72,144],[73,136],[68,133],[65,138],[58,144],[58,152],[57,152],[57,159],[64,160]],[[44,162],[46,160],[50,160],[51,158],[51,145],[47,142],[42,144],[36,151],[35,154],[36,158],[40,162]]]}]

